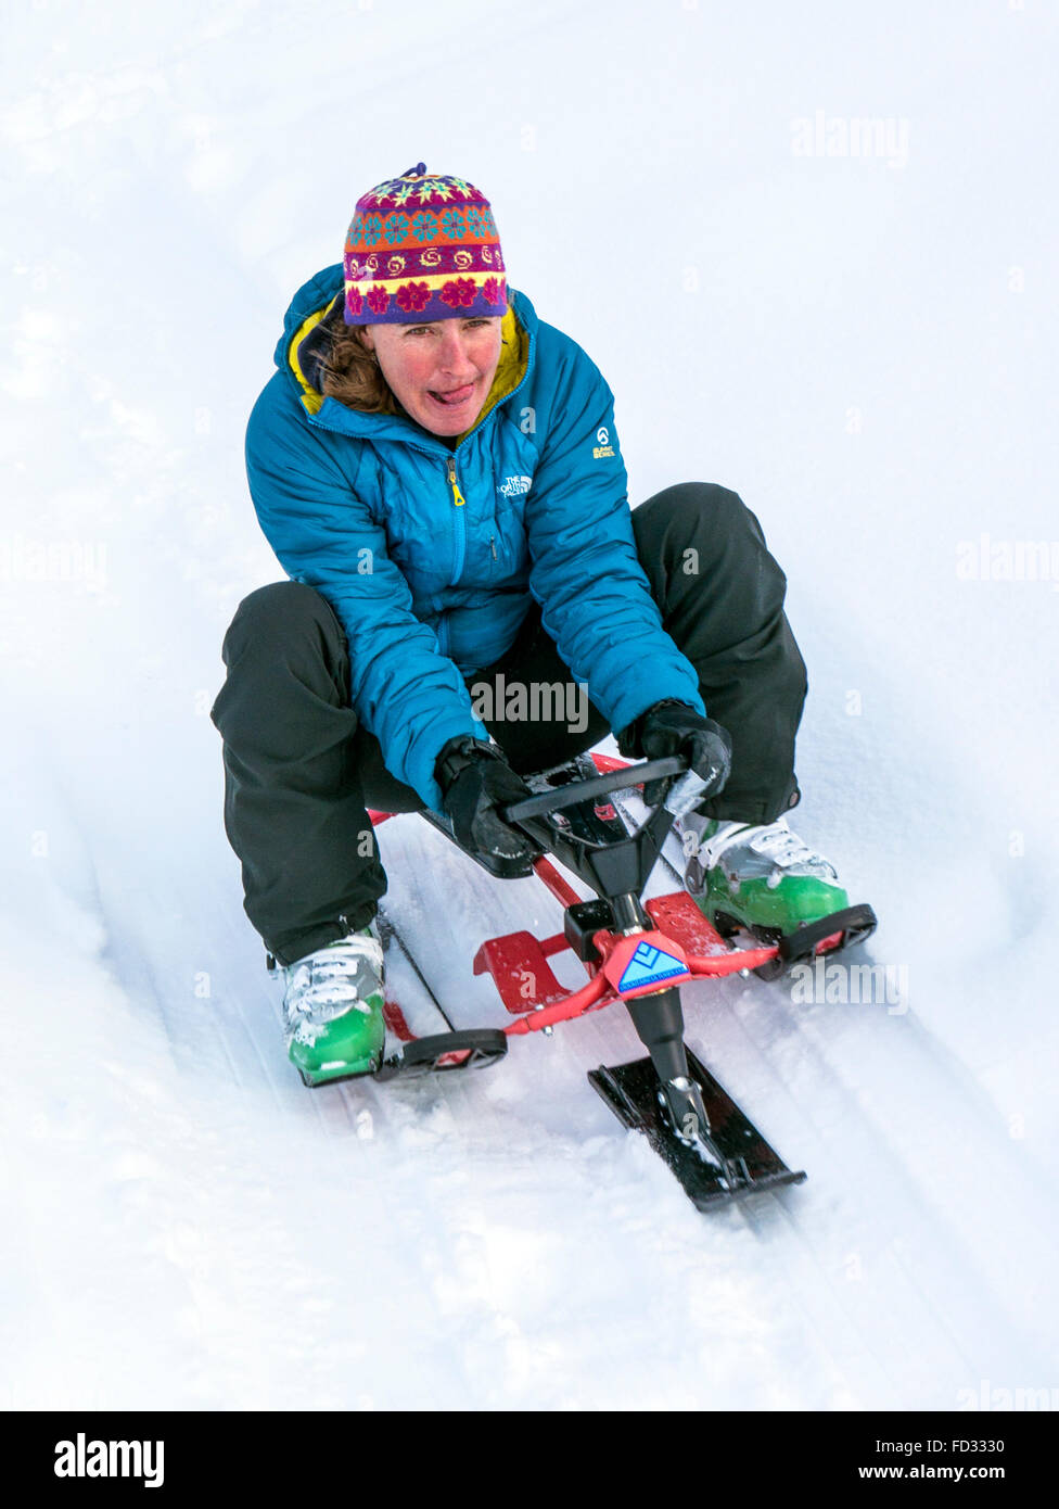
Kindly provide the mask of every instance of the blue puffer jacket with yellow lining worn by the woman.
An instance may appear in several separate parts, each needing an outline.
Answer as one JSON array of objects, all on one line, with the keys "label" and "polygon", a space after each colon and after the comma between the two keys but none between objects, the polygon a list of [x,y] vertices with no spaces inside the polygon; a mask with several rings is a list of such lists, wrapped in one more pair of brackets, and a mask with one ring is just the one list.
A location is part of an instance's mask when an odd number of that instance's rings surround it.
[{"label": "blue puffer jacket with yellow lining worn by the woman", "polygon": [[637,558],[614,395],[581,347],[508,288],[489,401],[453,450],[404,415],[321,395],[341,293],[336,264],[294,296],[246,468],[281,564],[345,629],[351,703],[388,770],[440,810],[442,745],[489,736],[463,676],[510,647],[531,598],[611,727],[661,697],[701,712]]}]

